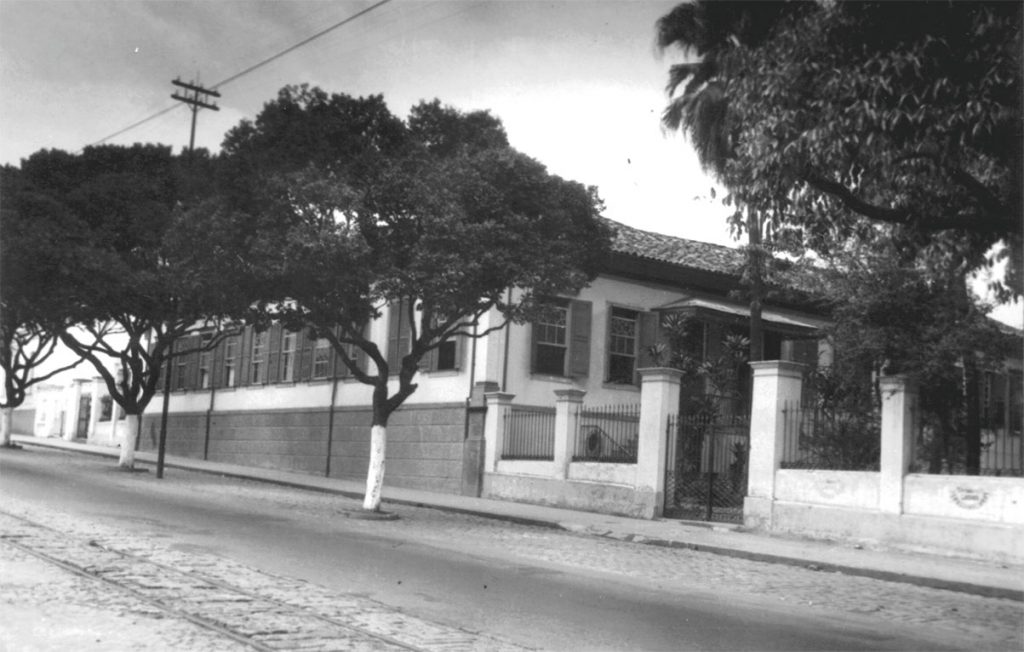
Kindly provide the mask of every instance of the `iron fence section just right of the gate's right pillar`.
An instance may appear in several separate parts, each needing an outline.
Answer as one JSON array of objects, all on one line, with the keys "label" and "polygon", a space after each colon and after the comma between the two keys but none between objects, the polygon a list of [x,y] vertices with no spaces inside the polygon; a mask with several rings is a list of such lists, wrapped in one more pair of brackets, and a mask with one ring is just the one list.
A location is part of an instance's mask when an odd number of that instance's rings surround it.
[{"label": "iron fence section just right of the gate's right pillar", "polygon": [[873,410],[841,411],[820,405],[782,406],[783,469],[878,471],[882,422]]}]

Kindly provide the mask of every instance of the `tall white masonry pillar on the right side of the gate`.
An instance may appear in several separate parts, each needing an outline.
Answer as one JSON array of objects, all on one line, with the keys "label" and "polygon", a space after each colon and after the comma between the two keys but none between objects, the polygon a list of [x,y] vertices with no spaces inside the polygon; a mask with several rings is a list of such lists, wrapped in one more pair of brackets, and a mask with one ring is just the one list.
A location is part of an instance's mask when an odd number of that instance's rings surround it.
[{"label": "tall white masonry pillar on the right side of the gate", "polygon": [[784,405],[799,404],[804,365],[785,360],[751,362],[754,388],[751,402],[751,459],[748,465],[743,524],[771,528],[775,499],[775,472],[785,444]]}]

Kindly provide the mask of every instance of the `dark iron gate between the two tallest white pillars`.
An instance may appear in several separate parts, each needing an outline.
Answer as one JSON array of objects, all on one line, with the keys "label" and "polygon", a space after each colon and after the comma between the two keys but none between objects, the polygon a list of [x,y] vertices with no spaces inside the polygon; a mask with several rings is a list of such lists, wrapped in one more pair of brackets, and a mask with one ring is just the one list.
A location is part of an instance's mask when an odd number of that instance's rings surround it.
[{"label": "dark iron gate between the two tallest white pillars", "polygon": [[669,417],[666,518],[741,523],[751,428],[746,417]]}]

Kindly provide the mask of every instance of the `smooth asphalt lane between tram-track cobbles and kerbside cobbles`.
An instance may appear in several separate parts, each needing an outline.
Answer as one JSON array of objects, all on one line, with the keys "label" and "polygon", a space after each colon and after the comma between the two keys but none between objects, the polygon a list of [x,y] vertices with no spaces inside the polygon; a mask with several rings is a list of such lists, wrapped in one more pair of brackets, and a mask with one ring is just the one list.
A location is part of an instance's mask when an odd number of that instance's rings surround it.
[{"label": "smooth asphalt lane between tram-track cobbles and kerbside cobbles", "polygon": [[[488,526],[474,522],[465,526],[475,528],[474,535],[460,536],[459,519],[471,517],[429,509],[395,508],[401,519],[393,522],[357,520],[345,516],[357,503],[340,496],[178,470],[157,480],[152,473],[120,472],[110,460],[34,448],[3,452],[0,495],[528,647],[972,647],[968,640],[950,639],[928,626],[804,608],[727,585],[709,591],[685,581],[651,582],[600,567],[521,558],[517,538],[551,533],[495,523],[496,535],[488,540],[479,534]],[[445,535],[417,537],[417,531]],[[561,536],[559,545],[587,545],[585,537]],[[630,554],[627,548],[621,551]],[[757,565],[744,562],[741,568],[756,572]],[[823,578],[822,591],[828,591],[827,582],[845,579]]]}]

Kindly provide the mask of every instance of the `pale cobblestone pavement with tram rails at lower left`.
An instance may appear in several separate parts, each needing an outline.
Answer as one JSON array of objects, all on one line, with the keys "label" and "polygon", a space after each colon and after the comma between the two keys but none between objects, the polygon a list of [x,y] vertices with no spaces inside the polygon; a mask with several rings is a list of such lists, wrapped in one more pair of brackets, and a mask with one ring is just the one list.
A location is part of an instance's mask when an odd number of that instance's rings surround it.
[{"label": "pale cobblestone pavement with tram rails at lower left", "polygon": [[69,515],[38,521],[0,512],[4,649],[522,649]]}]

